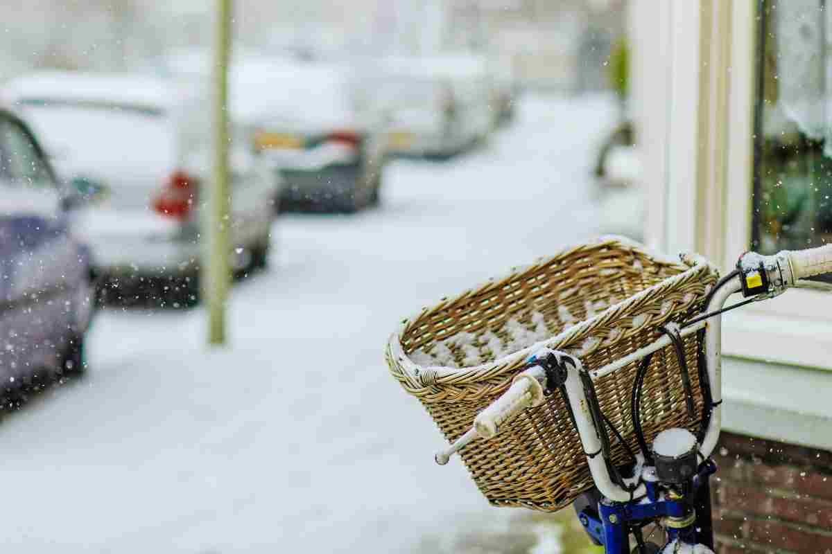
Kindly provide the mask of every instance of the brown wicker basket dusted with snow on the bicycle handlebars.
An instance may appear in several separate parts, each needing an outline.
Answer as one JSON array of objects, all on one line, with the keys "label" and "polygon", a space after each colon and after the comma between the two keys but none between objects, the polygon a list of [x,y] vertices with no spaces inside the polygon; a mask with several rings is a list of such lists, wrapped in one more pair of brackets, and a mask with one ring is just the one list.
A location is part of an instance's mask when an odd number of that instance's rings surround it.
[{"label": "brown wicker basket dusted with snow on the bicycle handlebars", "polygon": [[[717,277],[701,257],[668,258],[623,238],[605,238],[424,308],[390,337],[387,362],[404,390],[453,441],[508,390],[537,349],[567,351],[588,370],[600,368],[655,341],[659,326],[701,311]],[[704,355],[702,342],[701,333],[684,339],[696,399],[693,418],[672,346],[651,357],[641,395],[648,444],[664,429],[696,433],[699,428],[703,402],[696,368]],[[637,363],[595,383],[603,413],[633,451],[630,402]],[[625,447],[613,440],[613,460],[626,463]],[[494,439],[468,444],[461,456],[479,490],[498,506],[553,512],[592,487],[561,395],[527,409]]]}]

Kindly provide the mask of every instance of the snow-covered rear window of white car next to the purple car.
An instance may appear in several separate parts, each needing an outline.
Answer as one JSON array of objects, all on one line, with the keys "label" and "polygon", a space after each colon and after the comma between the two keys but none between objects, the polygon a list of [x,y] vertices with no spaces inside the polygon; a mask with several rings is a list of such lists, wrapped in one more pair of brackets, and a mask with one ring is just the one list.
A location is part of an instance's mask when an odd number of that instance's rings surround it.
[{"label": "snow-covered rear window of white car next to the purple car", "polygon": [[159,107],[48,99],[19,104],[62,178],[87,174],[111,187],[136,186],[173,161],[170,120]]}]

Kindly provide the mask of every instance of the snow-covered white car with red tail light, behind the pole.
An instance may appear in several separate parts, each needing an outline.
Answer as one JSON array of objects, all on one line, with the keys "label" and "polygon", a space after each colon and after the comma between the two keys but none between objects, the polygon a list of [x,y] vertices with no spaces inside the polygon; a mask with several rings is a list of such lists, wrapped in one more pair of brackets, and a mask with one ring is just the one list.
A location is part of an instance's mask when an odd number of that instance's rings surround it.
[{"label": "snow-covered white car with red tail light, behind the pole", "polygon": [[[211,169],[209,110],[199,90],[149,76],[64,72],[20,77],[2,90],[44,137],[58,174],[87,184],[90,201],[73,217],[92,247],[106,301],[196,302],[201,184]],[[277,185],[237,135],[230,229],[234,266],[242,269],[265,265]]]}]

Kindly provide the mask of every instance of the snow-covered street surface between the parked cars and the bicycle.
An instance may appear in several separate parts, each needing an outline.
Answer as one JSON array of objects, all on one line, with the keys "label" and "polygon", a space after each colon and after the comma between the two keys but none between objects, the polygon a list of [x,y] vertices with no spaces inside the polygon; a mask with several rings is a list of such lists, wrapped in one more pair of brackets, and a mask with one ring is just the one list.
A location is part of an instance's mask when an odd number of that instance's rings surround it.
[{"label": "snow-covered street surface between the parked cars and the bicycle", "polygon": [[607,96],[525,98],[473,152],[391,162],[378,209],[277,218],[270,267],[234,287],[225,350],[201,308],[99,312],[87,375],[2,420],[2,542],[560,552],[540,515],[490,507],[458,459],[433,463],[442,436],[383,349],[422,306],[607,231],[592,167],[615,116]]}]

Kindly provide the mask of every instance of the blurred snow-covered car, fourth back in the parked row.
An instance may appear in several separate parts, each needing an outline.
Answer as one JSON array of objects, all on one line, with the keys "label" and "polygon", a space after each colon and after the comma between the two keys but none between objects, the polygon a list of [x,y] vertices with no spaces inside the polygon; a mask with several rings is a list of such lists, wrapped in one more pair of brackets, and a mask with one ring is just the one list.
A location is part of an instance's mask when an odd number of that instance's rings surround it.
[{"label": "blurred snow-covered car, fourth back in the parked row", "polygon": [[486,64],[474,56],[395,56],[378,64],[379,102],[395,154],[447,158],[488,137],[495,115]]}]

